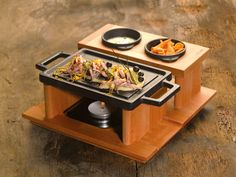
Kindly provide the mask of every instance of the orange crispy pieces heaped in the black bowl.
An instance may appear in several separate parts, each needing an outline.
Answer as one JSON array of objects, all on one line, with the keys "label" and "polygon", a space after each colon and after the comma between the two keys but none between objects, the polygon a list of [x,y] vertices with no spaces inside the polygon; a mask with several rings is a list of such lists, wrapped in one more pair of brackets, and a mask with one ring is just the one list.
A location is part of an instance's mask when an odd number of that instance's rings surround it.
[{"label": "orange crispy pieces heaped in the black bowl", "polygon": [[160,40],[161,42],[152,47],[151,51],[159,55],[174,55],[184,49],[184,44],[181,42],[174,43],[171,39]]}]

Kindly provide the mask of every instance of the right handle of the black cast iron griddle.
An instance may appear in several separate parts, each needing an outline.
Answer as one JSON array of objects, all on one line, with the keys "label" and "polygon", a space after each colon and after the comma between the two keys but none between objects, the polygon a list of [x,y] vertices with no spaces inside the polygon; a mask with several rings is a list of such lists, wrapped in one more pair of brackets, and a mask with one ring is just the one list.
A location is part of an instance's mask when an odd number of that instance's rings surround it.
[{"label": "right handle of the black cast iron griddle", "polygon": [[169,88],[169,90],[164,95],[162,95],[160,98],[151,98],[151,97],[143,96],[142,102],[146,104],[151,104],[154,106],[161,106],[180,90],[179,85],[172,83],[170,81],[164,80],[162,84],[163,84],[162,87]]}]

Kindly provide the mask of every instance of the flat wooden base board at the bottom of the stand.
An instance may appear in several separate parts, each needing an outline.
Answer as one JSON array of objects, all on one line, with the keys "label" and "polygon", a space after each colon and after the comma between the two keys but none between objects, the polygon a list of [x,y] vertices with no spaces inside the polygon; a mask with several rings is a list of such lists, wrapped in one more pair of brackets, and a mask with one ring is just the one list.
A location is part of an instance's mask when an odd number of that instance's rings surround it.
[{"label": "flat wooden base board at the bottom of the stand", "polygon": [[23,113],[23,117],[44,128],[145,163],[169,142],[215,93],[215,90],[201,87],[200,92],[188,106],[169,110],[165,118],[162,118],[140,140],[131,145],[124,145],[112,128],[100,129],[70,119],[63,114],[47,119],[44,103],[29,108]]}]

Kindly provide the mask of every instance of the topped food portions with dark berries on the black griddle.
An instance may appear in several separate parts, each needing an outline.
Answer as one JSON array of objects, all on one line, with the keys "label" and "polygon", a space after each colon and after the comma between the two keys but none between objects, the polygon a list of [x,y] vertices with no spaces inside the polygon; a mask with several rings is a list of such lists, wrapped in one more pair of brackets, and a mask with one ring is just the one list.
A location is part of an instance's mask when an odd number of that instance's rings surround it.
[{"label": "topped food portions with dark berries on the black griddle", "polygon": [[70,81],[86,81],[96,84],[100,89],[110,91],[133,91],[142,89],[144,73],[139,67],[113,64],[102,59],[86,60],[76,55],[71,62],[57,68],[53,76],[67,78]]}]

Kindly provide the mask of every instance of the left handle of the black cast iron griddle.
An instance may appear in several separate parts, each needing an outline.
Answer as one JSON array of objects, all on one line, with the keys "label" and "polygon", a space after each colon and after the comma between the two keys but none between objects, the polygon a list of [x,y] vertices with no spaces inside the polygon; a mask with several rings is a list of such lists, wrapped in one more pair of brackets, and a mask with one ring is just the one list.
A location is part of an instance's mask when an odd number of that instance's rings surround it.
[{"label": "left handle of the black cast iron griddle", "polygon": [[35,66],[40,71],[46,71],[48,69],[47,65],[58,58],[67,58],[70,54],[65,53],[63,51],[57,52],[56,54],[42,60],[41,62],[37,63]]}]

